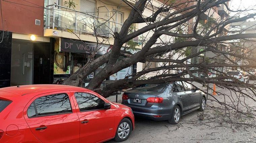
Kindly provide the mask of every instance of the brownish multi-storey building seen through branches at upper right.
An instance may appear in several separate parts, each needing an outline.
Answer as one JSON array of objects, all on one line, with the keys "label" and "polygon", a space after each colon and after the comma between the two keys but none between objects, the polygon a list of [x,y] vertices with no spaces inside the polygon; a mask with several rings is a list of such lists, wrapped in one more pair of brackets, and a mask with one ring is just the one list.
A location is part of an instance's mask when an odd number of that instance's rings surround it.
[{"label": "brownish multi-storey building seen through branches at upper right", "polygon": [[[197,4],[196,1],[186,1],[186,0],[181,0],[177,3],[181,4],[177,8],[177,10]],[[229,5],[229,1],[227,1],[226,4]],[[207,31],[207,29],[209,30],[210,27],[218,25],[220,22],[225,21],[228,17],[229,17],[229,13],[224,4],[212,7],[209,10],[207,10],[201,14],[201,17],[200,17],[200,20],[199,20],[199,23],[197,26],[197,30],[199,32],[201,32],[202,34],[205,34],[203,32],[205,29],[206,29],[205,31]],[[193,32],[193,27],[194,27],[195,22],[196,22],[196,17],[193,17],[192,19],[190,19],[188,21],[188,30],[187,30],[188,34],[191,34]],[[222,26],[222,24],[219,24],[219,27],[221,27],[221,26]],[[224,26],[223,31],[220,34],[218,34],[217,36],[227,35],[228,31],[229,31],[229,24]],[[215,31],[212,31],[211,34],[213,34],[214,32]],[[215,47],[221,51],[224,51],[225,49],[227,49],[228,46],[229,45],[225,44],[225,43],[218,43],[215,45]],[[205,48],[206,47],[202,47],[202,46],[193,47],[191,50],[191,53],[192,54],[198,53],[199,51],[201,51]],[[211,59],[209,61],[212,61],[212,62],[214,62],[214,61],[218,61],[219,63],[225,62],[225,58],[223,56],[216,55],[213,52],[206,52],[205,54],[201,54],[197,57],[191,58],[190,61],[188,61],[188,63],[192,63],[192,64],[201,63],[203,61],[206,61],[206,59]],[[215,70],[219,70],[222,72],[224,71],[223,68],[218,68]],[[210,76],[213,76],[213,77],[216,76],[215,73],[216,73],[216,71],[213,70],[212,74],[210,74]],[[199,77],[204,76],[204,75],[198,74],[198,73],[195,73],[195,75],[199,76]]]}]

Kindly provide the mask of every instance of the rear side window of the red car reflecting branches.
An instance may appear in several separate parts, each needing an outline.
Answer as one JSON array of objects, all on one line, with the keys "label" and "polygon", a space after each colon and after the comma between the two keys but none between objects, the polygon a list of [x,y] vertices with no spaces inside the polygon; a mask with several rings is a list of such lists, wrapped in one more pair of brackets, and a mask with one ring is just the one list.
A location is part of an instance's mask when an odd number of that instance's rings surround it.
[{"label": "rear side window of the red car reflecting branches", "polygon": [[28,117],[72,113],[67,94],[54,94],[35,99],[27,110]]}]

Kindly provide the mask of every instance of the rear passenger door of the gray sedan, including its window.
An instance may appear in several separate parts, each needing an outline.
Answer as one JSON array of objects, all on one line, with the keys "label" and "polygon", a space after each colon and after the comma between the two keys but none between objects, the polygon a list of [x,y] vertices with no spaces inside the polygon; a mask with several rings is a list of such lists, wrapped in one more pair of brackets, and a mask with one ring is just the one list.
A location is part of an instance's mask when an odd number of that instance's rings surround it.
[{"label": "rear passenger door of the gray sedan, including its window", "polygon": [[176,95],[182,103],[183,112],[188,111],[190,105],[190,96],[186,93],[182,82],[177,81],[173,83],[172,93]]}]

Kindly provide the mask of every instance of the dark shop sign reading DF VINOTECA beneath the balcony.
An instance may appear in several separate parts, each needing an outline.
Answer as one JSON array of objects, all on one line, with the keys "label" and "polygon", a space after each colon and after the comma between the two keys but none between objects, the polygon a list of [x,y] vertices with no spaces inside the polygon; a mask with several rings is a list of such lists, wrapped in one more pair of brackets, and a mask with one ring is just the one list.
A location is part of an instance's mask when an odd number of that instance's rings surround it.
[{"label": "dark shop sign reading DF VINOTECA beneath the balcony", "polygon": [[96,49],[96,43],[61,38],[60,51],[89,54]]}]

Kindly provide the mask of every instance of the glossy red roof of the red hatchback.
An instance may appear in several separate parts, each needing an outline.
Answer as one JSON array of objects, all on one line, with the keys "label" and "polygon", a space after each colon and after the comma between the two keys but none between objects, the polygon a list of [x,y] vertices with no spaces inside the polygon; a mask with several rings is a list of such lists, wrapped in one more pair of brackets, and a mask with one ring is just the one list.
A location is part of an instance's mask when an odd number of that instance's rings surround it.
[{"label": "glossy red roof of the red hatchback", "polygon": [[[15,95],[25,95],[32,92],[40,92],[40,94],[47,92],[56,92],[63,90],[89,90],[82,87],[57,85],[57,84],[33,84],[33,85],[20,85],[0,88],[0,91],[13,93]],[[1,96],[1,95],[0,95]]]}]

